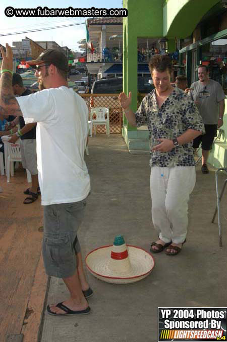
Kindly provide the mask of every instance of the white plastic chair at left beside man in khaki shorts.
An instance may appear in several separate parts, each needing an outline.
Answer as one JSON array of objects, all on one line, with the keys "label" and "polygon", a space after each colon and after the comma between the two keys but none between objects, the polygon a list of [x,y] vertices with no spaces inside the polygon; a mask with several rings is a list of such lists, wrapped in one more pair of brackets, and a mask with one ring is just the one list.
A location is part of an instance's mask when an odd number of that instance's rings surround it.
[{"label": "white plastic chair at left beside man in khaki shorts", "polygon": [[[7,159],[7,181],[10,182],[10,174],[14,176],[14,163],[13,162],[21,162],[21,149],[20,144],[16,141],[16,143],[9,143],[8,146],[8,159]],[[31,173],[28,169],[27,172],[27,181],[31,183]]]}]

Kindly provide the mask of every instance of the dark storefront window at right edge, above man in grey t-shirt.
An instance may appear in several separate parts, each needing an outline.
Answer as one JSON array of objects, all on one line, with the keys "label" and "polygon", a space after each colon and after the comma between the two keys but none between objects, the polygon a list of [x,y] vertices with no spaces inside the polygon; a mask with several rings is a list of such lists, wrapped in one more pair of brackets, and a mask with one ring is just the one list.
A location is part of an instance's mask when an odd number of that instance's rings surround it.
[{"label": "dark storefront window at right edge, above man in grey t-shirt", "polygon": [[201,63],[211,79],[219,82],[227,95],[227,36],[201,46]]}]

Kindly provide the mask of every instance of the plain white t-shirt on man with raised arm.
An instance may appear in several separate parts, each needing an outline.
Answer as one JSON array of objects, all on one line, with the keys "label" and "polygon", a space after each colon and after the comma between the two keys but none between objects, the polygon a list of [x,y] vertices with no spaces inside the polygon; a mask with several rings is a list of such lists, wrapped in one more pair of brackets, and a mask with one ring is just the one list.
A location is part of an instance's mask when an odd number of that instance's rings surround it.
[{"label": "plain white t-shirt on man with raised arm", "polygon": [[25,123],[37,122],[37,166],[42,205],[79,202],[88,196],[84,161],[88,108],[75,91],[61,86],[17,97]]}]

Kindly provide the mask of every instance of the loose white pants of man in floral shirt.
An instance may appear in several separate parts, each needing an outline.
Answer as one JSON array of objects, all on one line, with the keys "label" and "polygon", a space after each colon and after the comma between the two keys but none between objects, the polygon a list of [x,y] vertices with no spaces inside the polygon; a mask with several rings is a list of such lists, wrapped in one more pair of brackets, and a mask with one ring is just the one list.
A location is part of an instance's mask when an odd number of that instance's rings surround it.
[{"label": "loose white pants of man in floral shirt", "polygon": [[165,243],[181,243],[186,238],[189,195],[195,179],[194,166],[151,168],[152,221]]}]

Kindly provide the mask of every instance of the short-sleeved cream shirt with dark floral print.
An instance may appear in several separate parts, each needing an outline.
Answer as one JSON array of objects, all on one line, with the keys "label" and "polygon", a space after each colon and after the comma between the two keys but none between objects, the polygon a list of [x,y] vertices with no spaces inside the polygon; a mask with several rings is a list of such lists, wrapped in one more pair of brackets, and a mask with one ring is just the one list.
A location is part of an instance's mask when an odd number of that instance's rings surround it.
[{"label": "short-sleeved cream shirt with dark floral print", "polygon": [[194,166],[192,141],[173,148],[169,152],[152,151],[159,144],[158,138],[173,139],[188,129],[205,133],[204,124],[191,98],[179,88],[173,92],[158,108],[156,92],[147,94],[135,113],[137,126],[147,124],[150,140],[150,166]]}]

